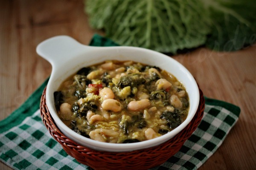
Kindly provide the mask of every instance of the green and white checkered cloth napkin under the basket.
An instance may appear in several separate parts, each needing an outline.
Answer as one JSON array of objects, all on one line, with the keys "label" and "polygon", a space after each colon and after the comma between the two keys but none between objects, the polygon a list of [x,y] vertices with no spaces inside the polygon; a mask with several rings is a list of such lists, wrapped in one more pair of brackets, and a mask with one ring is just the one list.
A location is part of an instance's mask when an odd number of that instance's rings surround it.
[{"label": "green and white checkered cloth napkin under the basket", "polygon": [[[99,35],[93,46],[117,45]],[[90,170],[67,155],[49,134],[40,116],[41,94],[48,79],[14,111],[0,121],[0,160],[16,170]],[[196,170],[218,149],[239,118],[240,108],[205,97],[203,119],[180,151],[152,170]]]}]

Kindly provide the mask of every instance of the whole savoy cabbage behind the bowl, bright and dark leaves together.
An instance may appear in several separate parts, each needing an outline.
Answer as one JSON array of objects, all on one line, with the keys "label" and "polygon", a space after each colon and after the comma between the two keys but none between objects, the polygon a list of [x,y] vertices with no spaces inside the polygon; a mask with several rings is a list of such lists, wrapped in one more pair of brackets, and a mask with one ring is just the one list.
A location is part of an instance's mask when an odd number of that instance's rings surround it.
[{"label": "whole savoy cabbage behind the bowl, bright and dark leaves together", "polygon": [[[255,42],[256,29],[250,21],[256,14],[252,17],[239,8],[240,1],[251,1],[247,8],[255,11],[253,0],[86,0],[85,11],[90,26],[104,30],[119,45],[176,54],[200,45],[236,50]],[[229,42],[244,35],[246,40],[236,48]]]}]

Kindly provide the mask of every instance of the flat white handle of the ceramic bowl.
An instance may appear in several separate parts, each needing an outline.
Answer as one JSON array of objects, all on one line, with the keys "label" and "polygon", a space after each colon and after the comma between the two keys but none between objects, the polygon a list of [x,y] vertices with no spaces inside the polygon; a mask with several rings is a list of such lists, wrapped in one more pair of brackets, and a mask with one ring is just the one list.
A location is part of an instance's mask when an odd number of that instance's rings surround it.
[{"label": "flat white handle of the ceramic bowl", "polygon": [[36,52],[55,67],[58,63],[65,62],[64,60],[81,54],[82,51],[87,51],[88,48],[93,47],[83,45],[69,36],[60,35],[38,44]]}]

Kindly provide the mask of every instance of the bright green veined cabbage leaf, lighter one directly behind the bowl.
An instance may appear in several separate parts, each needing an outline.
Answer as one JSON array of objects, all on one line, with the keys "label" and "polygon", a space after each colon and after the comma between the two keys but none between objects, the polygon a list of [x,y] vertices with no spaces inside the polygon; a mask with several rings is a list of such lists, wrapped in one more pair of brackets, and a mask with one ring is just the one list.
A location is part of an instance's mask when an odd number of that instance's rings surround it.
[{"label": "bright green veined cabbage leaf, lighter one directly behind the bowl", "polygon": [[120,45],[161,52],[204,44],[209,21],[198,0],[87,0],[92,28]]}]

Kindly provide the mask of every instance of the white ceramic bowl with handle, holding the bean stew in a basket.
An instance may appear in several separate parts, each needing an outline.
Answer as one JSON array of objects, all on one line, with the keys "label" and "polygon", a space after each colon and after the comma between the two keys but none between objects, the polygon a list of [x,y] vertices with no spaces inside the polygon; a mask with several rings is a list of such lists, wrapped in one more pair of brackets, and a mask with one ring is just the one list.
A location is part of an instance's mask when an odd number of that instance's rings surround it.
[{"label": "white ceramic bowl with handle, holding the bean stew in a basket", "polygon": [[[47,59],[52,65],[52,74],[50,76],[46,90],[46,104],[53,120],[59,130],[64,135],[82,146],[89,147],[94,150],[102,150],[109,152],[126,152],[153,147],[174,137],[179,133],[195,116],[199,104],[199,89],[194,77],[189,71],[169,56],[156,51],[137,48],[137,47],[91,47],[82,45],[76,40],[68,36],[52,37],[41,42],[37,48],[37,53]],[[133,60],[148,65],[155,65],[173,74],[183,83],[189,95],[190,108],[187,119],[171,132],[143,142],[129,144],[113,144],[98,142],[88,139],[75,133],[67,127],[58,117],[55,106],[53,93],[57,91],[61,82],[67,77],[76,73],[80,68],[90,66],[105,60]]]}]

